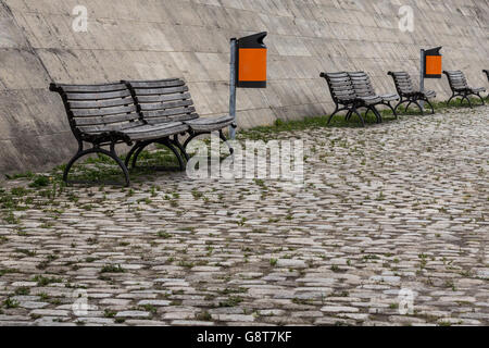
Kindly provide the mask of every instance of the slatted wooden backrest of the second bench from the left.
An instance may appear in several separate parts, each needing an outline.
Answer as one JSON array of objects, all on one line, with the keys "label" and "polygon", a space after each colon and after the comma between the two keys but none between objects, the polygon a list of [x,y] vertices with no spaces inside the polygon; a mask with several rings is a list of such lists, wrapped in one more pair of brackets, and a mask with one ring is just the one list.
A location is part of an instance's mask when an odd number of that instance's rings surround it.
[{"label": "slatted wooden backrest of the second bench from the left", "polygon": [[180,78],[123,83],[130,89],[142,119],[149,124],[199,117],[188,87]]}]

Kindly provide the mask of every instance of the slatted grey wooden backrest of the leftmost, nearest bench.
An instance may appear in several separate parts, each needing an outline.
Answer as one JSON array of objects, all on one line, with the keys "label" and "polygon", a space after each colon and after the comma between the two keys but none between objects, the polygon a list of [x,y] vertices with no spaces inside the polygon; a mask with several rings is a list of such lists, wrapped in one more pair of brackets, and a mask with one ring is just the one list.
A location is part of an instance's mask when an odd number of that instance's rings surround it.
[{"label": "slatted grey wooden backrest of the leftmost, nearest bench", "polygon": [[121,83],[103,85],[51,84],[63,99],[75,136],[124,130],[142,122],[130,90]]}]

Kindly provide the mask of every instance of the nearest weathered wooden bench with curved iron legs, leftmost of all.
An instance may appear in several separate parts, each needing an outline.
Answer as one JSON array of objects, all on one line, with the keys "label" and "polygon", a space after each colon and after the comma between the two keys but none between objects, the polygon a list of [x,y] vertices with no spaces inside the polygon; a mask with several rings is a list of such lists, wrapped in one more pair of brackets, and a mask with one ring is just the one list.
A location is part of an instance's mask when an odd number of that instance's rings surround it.
[{"label": "nearest weathered wooden bench with curved iron legs, leftmost of all", "polygon": [[[125,185],[129,186],[127,166],[115,152],[117,144],[131,146],[141,141],[159,142],[171,149],[179,161],[180,170],[185,169],[177,145],[171,136],[187,132],[188,125],[178,121],[154,125],[147,123],[142,120],[133,94],[125,84],[51,84],[49,88],[60,94],[70,126],[78,141],[78,151],[63,173],[65,183],[87,183],[68,181],[70,170],[78,159],[90,153],[102,153],[117,163],[124,173]],[[91,144],[91,148],[84,149],[84,142]],[[109,150],[103,147],[109,147]]]}]

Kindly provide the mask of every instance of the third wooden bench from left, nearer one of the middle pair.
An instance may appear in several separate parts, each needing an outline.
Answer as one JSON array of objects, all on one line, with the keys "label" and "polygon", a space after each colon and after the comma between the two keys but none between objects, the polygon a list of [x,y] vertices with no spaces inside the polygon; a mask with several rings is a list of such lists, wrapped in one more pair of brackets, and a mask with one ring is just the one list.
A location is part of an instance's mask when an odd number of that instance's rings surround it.
[{"label": "third wooden bench from left, nearer one of the middle pair", "polygon": [[346,116],[347,120],[350,120],[353,114],[356,114],[362,122],[362,125],[365,126],[365,120],[359,112],[359,109],[361,108],[365,108],[367,112],[374,112],[377,122],[381,121],[380,114],[375,109],[375,105],[383,103],[381,98],[378,96],[358,96],[353,82],[348,73],[321,73],[319,76],[326,79],[333,101],[335,102],[335,111],[329,116],[328,124],[338,112],[348,111]]}]

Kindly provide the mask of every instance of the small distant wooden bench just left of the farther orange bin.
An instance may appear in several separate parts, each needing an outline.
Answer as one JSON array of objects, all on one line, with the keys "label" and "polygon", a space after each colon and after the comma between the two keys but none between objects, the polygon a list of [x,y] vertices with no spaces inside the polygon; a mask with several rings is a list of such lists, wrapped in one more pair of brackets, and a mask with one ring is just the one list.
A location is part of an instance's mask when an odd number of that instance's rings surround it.
[{"label": "small distant wooden bench just left of the farther orange bin", "polygon": [[434,90],[421,91],[415,89],[411,76],[406,72],[388,72],[387,74],[392,76],[398,95],[401,97],[401,100],[396,105],[394,110],[398,110],[401,104],[408,103],[404,109],[404,112],[406,112],[409,107],[412,103],[415,103],[419,108],[422,114],[424,114],[423,107],[418,101],[425,101],[431,108],[431,114],[435,113],[435,109],[429,102],[429,99],[437,97],[437,94]]}]

